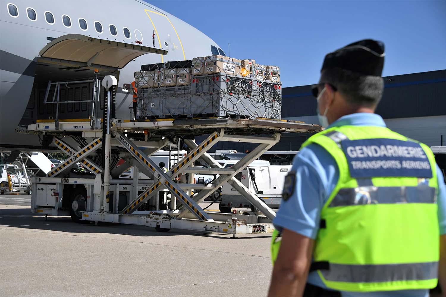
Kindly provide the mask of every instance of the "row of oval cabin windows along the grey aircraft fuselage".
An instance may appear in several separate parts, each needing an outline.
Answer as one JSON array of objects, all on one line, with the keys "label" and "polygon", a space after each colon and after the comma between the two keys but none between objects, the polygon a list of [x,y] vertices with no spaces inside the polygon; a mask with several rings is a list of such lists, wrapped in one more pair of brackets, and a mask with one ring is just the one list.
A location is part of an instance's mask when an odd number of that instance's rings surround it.
[{"label": "row of oval cabin windows along the grey aircraft fuselage", "polygon": [[[12,17],[17,17],[19,16],[19,11],[17,9],[17,6],[15,4],[12,3],[8,3],[8,13],[10,16]],[[26,15],[28,16],[29,20],[32,21],[36,21],[37,20],[37,13],[33,8],[26,8]],[[52,12],[50,11],[45,11],[45,21],[52,25],[55,23],[54,21],[54,15]],[[79,28],[81,28],[81,30],[83,31],[87,31],[88,29],[88,24],[87,24],[87,20],[83,19],[83,18],[79,18],[78,20],[79,22]],[[67,16],[66,14],[62,15],[62,24],[66,27],[66,28],[71,28],[71,18],[70,16]],[[110,24],[108,26],[109,30],[110,30],[110,34],[113,36],[118,36],[118,31],[116,30],[115,25]],[[95,30],[97,33],[103,33],[103,28],[102,28],[102,24],[99,21],[95,21]],[[122,32],[124,33],[125,38],[130,39],[132,37],[132,34],[130,33],[130,30],[126,27],[122,28]],[[135,38],[138,41],[142,41],[142,33],[140,30],[136,29],[135,30]]]}]

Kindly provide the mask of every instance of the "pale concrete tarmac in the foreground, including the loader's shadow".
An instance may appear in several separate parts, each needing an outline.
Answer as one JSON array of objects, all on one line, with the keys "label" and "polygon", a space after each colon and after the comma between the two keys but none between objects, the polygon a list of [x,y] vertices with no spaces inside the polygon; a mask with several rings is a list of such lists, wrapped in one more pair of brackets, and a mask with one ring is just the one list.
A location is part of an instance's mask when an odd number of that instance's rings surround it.
[{"label": "pale concrete tarmac in the foreground, including the loader's shadow", "polygon": [[0,296],[267,294],[270,234],[75,224],[70,217],[45,220],[30,203],[29,195],[0,195]]}]

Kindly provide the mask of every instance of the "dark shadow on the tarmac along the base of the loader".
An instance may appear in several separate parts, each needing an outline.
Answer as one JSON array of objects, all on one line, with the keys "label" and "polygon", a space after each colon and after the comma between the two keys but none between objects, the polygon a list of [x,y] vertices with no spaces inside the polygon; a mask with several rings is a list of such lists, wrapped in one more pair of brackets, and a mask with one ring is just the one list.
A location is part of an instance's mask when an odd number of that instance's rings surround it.
[{"label": "dark shadow on the tarmac along the base of the loader", "polygon": [[[29,208],[0,209],[0,225],[1,227],[37,229],[69,233],[109,233],[116,235],[145,237],[194,235],[219,239],[233,239],[231,234],[213,233],[207,231],[171,229],[169,232],[157,232],[155,228],[152,227],[131,224],[116,224],[105,222],[98,222],[97,225],[94,222],[77,224],[74,223],[69,216],[48,216],[48,220],[45,220],[45,216],[33,214],[30,212]],[[254,236],[236,237],[234,239],[240,240],[266,237],[271,237],[271,235],[259,236],[258,234],[255,234]]]}]

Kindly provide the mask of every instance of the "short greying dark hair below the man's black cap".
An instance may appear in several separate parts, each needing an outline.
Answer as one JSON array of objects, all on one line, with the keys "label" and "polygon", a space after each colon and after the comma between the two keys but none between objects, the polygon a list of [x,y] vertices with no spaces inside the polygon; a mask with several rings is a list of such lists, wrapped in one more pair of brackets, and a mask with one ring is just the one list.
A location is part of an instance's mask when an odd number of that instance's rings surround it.
[{"label": "short greying dark hair below the man's black cap", "polygon": [[384,80],[380,76],[330,68],[322,71],[319,83],[335,86],[343,98],[355,106],[373,107],[378,105],[383,97]]}]

